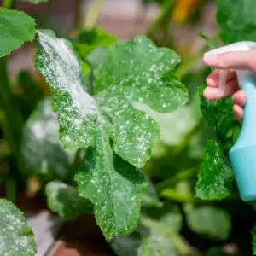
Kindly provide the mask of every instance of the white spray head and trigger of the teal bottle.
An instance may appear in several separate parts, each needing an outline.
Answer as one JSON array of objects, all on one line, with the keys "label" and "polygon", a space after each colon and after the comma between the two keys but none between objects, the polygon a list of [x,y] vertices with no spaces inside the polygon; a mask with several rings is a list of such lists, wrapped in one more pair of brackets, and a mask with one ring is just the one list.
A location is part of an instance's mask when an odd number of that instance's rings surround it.
[{"label": "white spray head and trigger of the teal bottle", "polygon": [[[229,44],[223,47],[220,47],[218,49],[212,49],[210,51],[208,51],[207,53],[205,53],[204,55],[220,55],[226,52],[234,52],[234,51],[248,51],[251,49],[256,48],[256,43],[254,42],[249,42],[249,41],[244,41],[244,42],[238,42],[235,44]],[[236,71],[236,75],[239,81],[239,84],[241,84],[241,81],[239,79],[239,77],[243,76],[243,72],[244,71],[239,71],[239,70],[235,70]],[[226,84],[226,80],[227,80],[227,73],[228,70],[227,69],[222,69],[219,70],[219,79],[218,79],[218,91],[219,91],[219,96],[223,96],[224,95],[224,90],[225,90],[225,84]]]}]

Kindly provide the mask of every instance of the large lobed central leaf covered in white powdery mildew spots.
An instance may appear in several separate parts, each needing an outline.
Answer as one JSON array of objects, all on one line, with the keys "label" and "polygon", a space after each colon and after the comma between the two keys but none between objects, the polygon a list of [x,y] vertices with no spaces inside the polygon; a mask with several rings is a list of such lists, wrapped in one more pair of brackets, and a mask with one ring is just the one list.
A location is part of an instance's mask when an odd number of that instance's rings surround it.
[{"label": "large lobed central leaf covered in white powdery mildew spots", "polygon": [[144,37],[116,44],[96,69],[93,98],[84,89],[72,45],[51,32],[38,32],[38,41],[36,67],[54,94],[62,143],[70,149],[92,146],[75,177],[79,194],[94,204],[108,239],[130,234],[146,187],[133,166],[145,164],[160,133],[154,120],[133,103],[144,102],[160,112],[185,104],[187,91],[172,73],[179,58]]}]

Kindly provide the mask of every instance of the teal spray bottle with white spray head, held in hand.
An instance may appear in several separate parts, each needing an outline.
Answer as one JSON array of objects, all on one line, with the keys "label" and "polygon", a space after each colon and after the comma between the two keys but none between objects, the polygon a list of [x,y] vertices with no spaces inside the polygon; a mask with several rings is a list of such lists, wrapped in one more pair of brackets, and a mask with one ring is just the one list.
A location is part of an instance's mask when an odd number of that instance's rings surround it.
[{"label": "teal spray bottle with white spray head, held in hand", "polygon": [[[248,51],[255,48],[256,43],[254,42],[238,42],[212,49],[205,55]],[[256,202],[256,77],[248,70],[235,70],[235,72],[241,90],[244,90],[247,95],[247,103],[244,108],[241,133],[230,149],[229,156],[241,199],[253,203]],[[224,92],[226,77],[227,70],[220,70],[220,96]],[[253,203],[253,206],[255,206],[255,203]]]}]

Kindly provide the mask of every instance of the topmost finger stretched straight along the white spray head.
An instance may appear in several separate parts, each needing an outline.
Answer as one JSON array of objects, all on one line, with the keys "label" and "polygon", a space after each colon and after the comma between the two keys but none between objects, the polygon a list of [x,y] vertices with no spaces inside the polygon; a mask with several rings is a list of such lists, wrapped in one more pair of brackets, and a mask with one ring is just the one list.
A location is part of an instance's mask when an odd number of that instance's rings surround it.
[{"label": "topmost finger stretched straight along the white spray head", "polygon": [[256,49],[205,55],[203,61],[207,66],[217,69],[247,69],[256,72]]}]

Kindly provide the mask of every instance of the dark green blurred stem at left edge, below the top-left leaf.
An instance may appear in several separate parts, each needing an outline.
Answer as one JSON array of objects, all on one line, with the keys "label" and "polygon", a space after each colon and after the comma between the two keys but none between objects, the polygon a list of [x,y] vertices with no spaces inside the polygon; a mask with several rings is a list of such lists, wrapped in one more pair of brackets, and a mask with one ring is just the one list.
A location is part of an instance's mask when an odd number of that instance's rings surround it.
[{"label": "dark green blurred stem at left edge, below the top-left leaf", "polygon": [[0,107],[3,109],[3,132],[9,143],[9,147],[15,154],[15,158],[19,159],[20,139],[24,120],[20,108],[16,105],[15,99],[12,96],[9,79],[7,73],[7,57],[0,59]]}]

